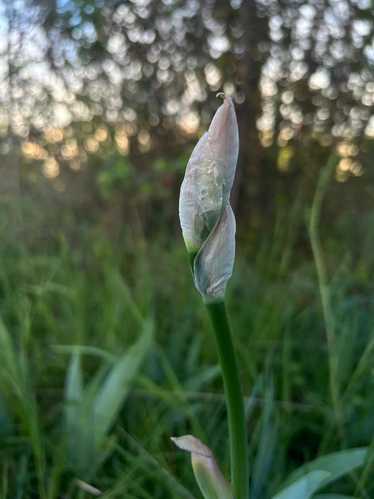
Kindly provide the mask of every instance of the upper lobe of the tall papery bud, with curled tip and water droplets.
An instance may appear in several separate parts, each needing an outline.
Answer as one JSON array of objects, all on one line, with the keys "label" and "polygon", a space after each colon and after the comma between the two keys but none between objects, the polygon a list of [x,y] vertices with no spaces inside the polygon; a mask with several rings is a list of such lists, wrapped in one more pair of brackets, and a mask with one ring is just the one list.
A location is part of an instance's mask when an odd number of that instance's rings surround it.
[{"label": "upper lobe of the tall papery bud, with curled tip and water droplets", "polygon": [[235,175],[239,150],[236,115],[231,98],[215,113],[208,131],[189,158],[181,187],[179,215],[190,253],[197,252],[226,206]]}]

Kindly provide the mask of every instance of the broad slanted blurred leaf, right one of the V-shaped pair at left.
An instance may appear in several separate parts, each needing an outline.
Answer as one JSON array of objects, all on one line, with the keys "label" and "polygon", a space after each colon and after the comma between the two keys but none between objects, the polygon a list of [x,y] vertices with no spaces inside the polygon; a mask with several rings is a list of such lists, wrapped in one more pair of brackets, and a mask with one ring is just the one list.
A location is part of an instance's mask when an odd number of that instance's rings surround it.
[{"label": "broad slanted blurred leaf, right one of the V-shaped pair at left", "polygon": [[118,416],[152,341],[153,322],[144,321],[140,339],[118,359],[108,374],[94,404],[95,440],[97,442],[100,442],[110,430]]}]

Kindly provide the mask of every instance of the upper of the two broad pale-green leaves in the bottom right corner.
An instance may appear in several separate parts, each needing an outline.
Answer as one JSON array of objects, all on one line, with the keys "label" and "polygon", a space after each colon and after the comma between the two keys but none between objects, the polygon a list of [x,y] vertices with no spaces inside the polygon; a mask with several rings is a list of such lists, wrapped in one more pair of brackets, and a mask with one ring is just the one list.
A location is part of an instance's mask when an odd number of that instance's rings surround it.
[{"label": "upper of the two broad pale-green leaves in the bottom right corner", "polygon": [[290,484],[293,484],[301,477],[314,470],[325,470],[329,472],[329,477],[321,483],[319,489],[322,489],[329,484],[332,484],[344,475],[347,475],[347,473],[351,473],[352,471],[362,466],[365,463],[367,456],[368,449],[366,447],[327,454],[326,456],[317,458],[314,461],[311,461],[310,463],[307,463],[295,470],[287,478],[287,480],[283,484],[283,487],[287,487]]}]

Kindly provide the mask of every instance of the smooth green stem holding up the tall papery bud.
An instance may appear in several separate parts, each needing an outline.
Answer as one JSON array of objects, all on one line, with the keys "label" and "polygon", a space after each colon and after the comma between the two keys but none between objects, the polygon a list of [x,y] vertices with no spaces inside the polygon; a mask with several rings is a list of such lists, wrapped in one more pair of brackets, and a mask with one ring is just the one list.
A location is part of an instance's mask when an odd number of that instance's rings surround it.
[{"label": "smooth green stem holding up the tall papery bud", "polygon": [[206,303],[213,325],[226,395],[230,437],[231,488],[235,499],[249,498],[248,442],[239,370],[224,301]]}]

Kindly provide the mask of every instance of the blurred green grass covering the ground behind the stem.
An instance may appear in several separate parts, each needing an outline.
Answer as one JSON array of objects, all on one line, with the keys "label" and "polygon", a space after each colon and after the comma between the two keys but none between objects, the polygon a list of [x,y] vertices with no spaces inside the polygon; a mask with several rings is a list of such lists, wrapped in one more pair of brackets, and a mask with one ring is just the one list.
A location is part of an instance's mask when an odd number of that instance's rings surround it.
[{"label": "blurred green grass covering the ground behind the stem", "polygon": [[[259,499],[304,462],[373,445],[374,233],[358,244],[349,229],[320,228],[332,349],[321,275],[310,241],[300,244],[306,223],[297,203],[279,214],[255,254],[239,234],[227,292],[247,397],[251,491]],[[89,229],[79,241],[2,238],[1,499],[82,499],[95,490],[104,498],[200,498],[188,455],[170,442],[189,433],[229,476],[212,330],[182,237],[175,241],[118,245]],[[139,353],[134,344],[145,328]],[[369,460],[327,491],[370,498],[373,471]]]}]

